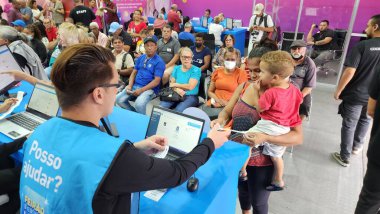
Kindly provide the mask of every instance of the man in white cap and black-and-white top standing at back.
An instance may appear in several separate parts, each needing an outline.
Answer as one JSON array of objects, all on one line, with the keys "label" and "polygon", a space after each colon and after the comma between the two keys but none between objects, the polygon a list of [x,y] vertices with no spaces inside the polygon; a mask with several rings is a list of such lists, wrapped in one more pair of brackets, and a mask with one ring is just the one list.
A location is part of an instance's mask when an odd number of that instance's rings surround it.
[{"label": "man in white cap and black-and-white top standing at back", "polygon": [[249,20],[249,32],[251,36],[249,38],[248,53],[252,48],[258,44],[262,39],[273,32],[274,23],[272,17],[264,13],[264,5],[259,3],[255,6],[253,16]]}]

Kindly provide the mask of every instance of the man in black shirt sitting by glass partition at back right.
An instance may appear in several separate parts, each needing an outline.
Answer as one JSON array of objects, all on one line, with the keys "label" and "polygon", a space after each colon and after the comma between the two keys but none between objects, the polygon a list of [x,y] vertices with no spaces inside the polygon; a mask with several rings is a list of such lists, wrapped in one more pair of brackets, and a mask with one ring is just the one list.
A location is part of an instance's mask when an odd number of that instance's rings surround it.
[{"label": "man in black shirt sitting by glass partition at back right", "polygon": [[315,27],[316,24],[311,25],[310,31],[307,34],[307,43],[313,45],[311,58],[319,66],[333,57],[333,52],[329,50],[335,49],[334,31],[329,29],[328,20],[322,20],[318,26],[319,31],[313,35]]}]

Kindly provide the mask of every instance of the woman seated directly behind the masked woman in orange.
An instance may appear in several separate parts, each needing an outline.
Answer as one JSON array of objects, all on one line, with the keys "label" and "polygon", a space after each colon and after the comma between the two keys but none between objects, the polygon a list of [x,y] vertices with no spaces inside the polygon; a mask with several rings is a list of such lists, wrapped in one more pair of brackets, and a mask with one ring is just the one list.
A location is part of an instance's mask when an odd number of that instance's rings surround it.
[{"label": "woman seated directly behind the masked woman in orange", "polygon": [[[218,67],[224,66],[224,54],[227,51],[227,48],[234,47],[235,45],[235,37],[231,34],[228,34],[224,37],[223,40],[223,48],[220,48],[219,51],[216,53],[215,57],[212,60],[212,68],[213,70],[217,69]],[[240,68],[241,65],[241,55],[239,49],[234,48],[237,53],[237,59],[236,59],[236,66]]]}]

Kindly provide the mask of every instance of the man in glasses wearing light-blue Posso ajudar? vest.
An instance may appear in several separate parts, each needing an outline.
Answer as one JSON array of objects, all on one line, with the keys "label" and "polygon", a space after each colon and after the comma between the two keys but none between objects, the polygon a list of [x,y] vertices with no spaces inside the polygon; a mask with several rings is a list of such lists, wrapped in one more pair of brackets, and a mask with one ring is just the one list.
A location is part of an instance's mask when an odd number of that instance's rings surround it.
[{"label": "man in glasses wearing light-blue Posso ajudar? vest", "polygon": [[99,120],[112,112],[119,86],[114,62],[110,50],[94,44],[58,56],[51,80],[62,116],[40,125],[24,144],[20,198],[27,200],[20,212],[37,202],[45,213],[130,213],[133,192],[180,185],[227,141],[230,132],[216,126],[190,153],[169,161],[146,154],[163,151],[165,137],[132,144],[101,132]]}]

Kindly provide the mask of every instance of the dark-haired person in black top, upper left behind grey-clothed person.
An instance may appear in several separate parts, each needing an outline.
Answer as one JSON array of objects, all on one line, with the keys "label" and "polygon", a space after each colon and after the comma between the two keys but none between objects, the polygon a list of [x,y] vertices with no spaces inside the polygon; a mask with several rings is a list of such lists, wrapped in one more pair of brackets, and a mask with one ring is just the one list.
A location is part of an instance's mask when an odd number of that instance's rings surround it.
[{"label": "dark-haired person in black top, upper left behind grey-clothed person", "polygon": [[40,57],[42,63],[45,62],[47,57],[46,47],[42,42],[41,32],[35,24],[31,24],[24,28],[23,33],[28,37],[30,47]]}]

